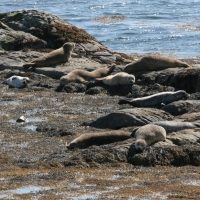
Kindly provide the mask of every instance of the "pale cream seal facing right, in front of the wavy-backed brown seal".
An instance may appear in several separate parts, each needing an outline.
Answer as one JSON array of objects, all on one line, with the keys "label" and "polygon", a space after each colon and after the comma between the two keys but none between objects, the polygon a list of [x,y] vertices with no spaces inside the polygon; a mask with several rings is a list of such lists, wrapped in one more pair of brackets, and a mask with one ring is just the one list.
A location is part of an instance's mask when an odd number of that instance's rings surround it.
[{"label": "pale cream seal facing right, in front of the wavy-backed brown seal", "polygon": [[103,78],[98,78],[97,81],[102,82],[105,85],[132,85],[135,83],[135,76],[126,72],[119,72],[114,75],[109,75]]}]

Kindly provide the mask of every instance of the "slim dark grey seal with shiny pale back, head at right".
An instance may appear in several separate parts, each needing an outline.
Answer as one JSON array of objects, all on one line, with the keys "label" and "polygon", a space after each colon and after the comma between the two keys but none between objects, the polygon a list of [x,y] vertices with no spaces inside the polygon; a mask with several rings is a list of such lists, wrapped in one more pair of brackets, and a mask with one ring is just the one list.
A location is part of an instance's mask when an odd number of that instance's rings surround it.
[{"label": "slim dark grey seal with shiny pale back, head at right", "polygon": [[187,99],[188,94],[184,90],[176,92],[160,92],[141,98],[123,98],[119,100],[119,104],[130,104],[136,107],[155,107],[161,104],[169,104],[181,99]]}]

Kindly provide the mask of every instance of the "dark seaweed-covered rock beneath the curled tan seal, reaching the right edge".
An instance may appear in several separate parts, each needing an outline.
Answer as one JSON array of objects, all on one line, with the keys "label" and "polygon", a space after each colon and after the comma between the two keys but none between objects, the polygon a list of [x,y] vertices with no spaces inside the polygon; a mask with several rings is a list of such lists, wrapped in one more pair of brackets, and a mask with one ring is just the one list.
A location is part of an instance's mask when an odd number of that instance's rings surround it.
[{"label": "dark seaweed-covered rock beneath the curled tan seal, reaching the right edge", "polygon": [[128,162],[133,165],[200,165],[200,145],[174,146],[166,145],[148,147],[142,153],[137,152],[132,145],[128,152]]}]

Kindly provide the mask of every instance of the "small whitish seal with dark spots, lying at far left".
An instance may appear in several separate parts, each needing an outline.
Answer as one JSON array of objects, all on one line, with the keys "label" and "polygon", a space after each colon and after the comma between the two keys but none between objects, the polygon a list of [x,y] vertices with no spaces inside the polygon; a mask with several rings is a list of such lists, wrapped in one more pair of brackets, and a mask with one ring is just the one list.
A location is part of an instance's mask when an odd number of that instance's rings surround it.
[{"label": "small whitish seal with dark spots, lying at far left", "polygon": [[11,76],[10,78],[6,79],[3,83],[9,85],[9,87],[13,88],[24,88],[28,84],[30,79],[28,77],[22,76]]}]

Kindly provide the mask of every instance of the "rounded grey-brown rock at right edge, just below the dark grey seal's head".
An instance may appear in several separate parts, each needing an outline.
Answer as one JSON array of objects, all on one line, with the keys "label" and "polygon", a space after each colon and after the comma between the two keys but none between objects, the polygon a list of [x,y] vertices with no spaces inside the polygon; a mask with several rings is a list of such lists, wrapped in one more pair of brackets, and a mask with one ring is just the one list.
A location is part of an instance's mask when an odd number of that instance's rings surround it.
[{"label": "rounded grey-brown rock at right edge, just below the dark grey seal's head", "polygon": [[180,100],[172,102],[163,107],[163,110],[176,116],[187,112],[195,112],[200,110],[199,100]]}]

